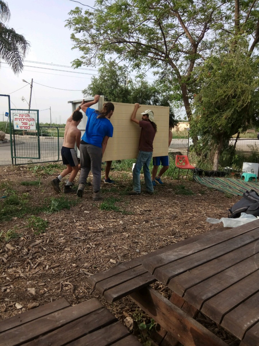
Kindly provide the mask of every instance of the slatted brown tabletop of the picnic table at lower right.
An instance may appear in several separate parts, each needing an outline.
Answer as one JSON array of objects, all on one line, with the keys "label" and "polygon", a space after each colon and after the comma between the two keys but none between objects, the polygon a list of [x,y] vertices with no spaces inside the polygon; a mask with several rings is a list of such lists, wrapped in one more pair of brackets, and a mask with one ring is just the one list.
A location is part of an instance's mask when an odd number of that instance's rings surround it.
[{"label": "slatted brown tabletop of the picnic table at lower right", "polygon": [[[194,237],[195,238],[195,237]],[[143,260],[158,281],[241,341],[259,345],[259,220]],[[135,297],[136,298],[136,297]]]}]

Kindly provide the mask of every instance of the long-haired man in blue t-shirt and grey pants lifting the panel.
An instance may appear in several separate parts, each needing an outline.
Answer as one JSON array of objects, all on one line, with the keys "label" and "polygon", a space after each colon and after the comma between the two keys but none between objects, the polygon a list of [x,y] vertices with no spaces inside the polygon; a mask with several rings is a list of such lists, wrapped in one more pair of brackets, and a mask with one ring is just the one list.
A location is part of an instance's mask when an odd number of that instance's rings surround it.
[{"label": "long-haired man in blue t-shirt and grey pants lifting the panel", "polygon": [[77,196],[82,197],[86,184],[86,179],[90,170],[93,174],[93,201],[102,199],[100,195],[101,164],[109,137],[113,136],[113,126],[110,118],[113,115],[114,105],[112,102],[104,103],[101,111],[89,108],[97,103],[99,95],[95,95],[94,100],[84,103],[79,109],[87,115],[85,133],[80,143],[80,164],[81,173]]}]

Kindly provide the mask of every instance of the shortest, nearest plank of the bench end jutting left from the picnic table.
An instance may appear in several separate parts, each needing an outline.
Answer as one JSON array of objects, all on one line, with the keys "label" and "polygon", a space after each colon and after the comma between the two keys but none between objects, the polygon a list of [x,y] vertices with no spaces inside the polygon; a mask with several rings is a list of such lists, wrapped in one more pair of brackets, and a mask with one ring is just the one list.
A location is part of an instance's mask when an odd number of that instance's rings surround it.
[{"label": "shortest, nearest plank of the bench end jutting left from the picnic table", "polygon": [[110,290],[104,292],[104,298],[112,303],[118,299],[126,297],[126,295],[131,294],[136,291],[136,289],[141,289],[142,287],[148,286],[150,283],[155,282],[156,279],[150,273],[145,273],[138,276],[132,280],[128,280],[121,285],[115,286]]}]

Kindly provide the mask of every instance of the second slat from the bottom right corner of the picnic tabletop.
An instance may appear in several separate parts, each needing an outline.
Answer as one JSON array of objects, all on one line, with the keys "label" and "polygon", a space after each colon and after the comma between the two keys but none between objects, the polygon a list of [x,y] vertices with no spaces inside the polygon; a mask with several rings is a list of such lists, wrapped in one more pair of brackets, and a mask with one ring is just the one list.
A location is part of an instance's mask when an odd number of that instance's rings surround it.
[{"label": "second slat from the bottom right corner of the picnic tabletop", "polygon": [[242,339],[246,330],[259,321],[258,302],[259,292],[227,313],[221,322],[221,326]]}]

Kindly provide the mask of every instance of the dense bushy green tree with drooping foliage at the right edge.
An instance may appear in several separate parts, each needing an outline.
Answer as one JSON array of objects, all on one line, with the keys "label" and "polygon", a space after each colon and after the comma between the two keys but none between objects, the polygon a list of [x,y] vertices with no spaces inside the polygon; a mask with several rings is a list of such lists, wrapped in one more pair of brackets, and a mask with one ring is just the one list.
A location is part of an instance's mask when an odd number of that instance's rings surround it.
[{"label": "dense bushy green tree with drooping foliage at the right edge", "polygon": [[[190,134],[200,135],[200,150],[219,155],[236,133],[259,125],[259,58],[248,52],[247,40],[230,42],[226,52],[206,60],[197,71],[200,91],[194,97]],[[199,145],[199,144],[198,144]]]}]

